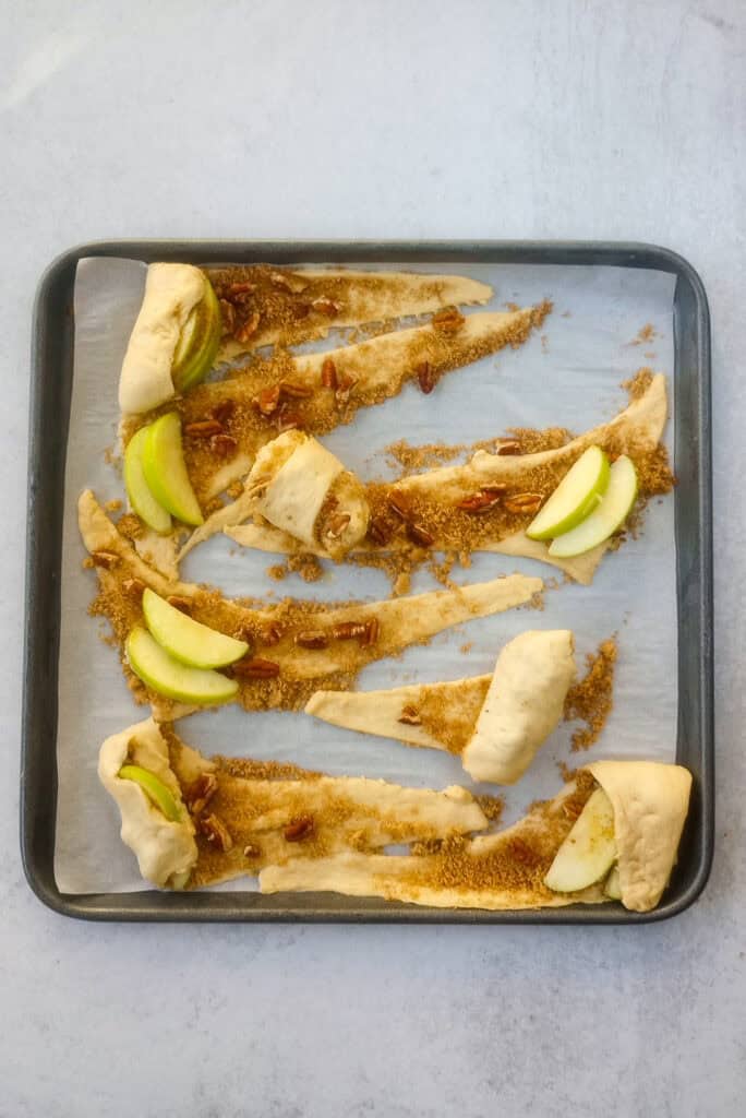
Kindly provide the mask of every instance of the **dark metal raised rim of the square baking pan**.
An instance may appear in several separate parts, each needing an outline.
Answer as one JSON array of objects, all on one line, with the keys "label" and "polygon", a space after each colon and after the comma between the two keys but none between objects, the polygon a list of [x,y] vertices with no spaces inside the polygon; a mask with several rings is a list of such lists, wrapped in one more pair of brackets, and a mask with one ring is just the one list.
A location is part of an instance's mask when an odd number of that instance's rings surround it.
[{"label": "dark metal raised rim of the square baking pan", "polygon": [[[54,882],[54,813],[56,799],[56,764],[51,755],[51,787],[41,787],[40,766],[45,760],[44,741],[39,739],[39,714],[36,701],[45,698],[39,688],[40,655],[38,634],[38,603],[44,590],[45,576],[48,571],[48,549],[39,548],[39,538],[48,542],[49,525],[44,525],[40,509],[39,491],[44,474],[41,462],[48,465],[48,454],[39,459],[38,451],[44,446],[45,420],[48,421],[51,401],[49,385],[44,382],[45,368],[48,368],[50,352],[49,318],[51,300],[56,285],[67,283],[68,301],[71,301],[73,282],[77,262],[84,256],[134,256],[143,259],[156,258],[192,258],[201,262],[220,258],[259,259],[262,255],[271,255],[286,260],[308,258],[354,259],[375,257],[384,259],[398,256],[399,259],[428,258],[468,260],[490,258],[511,263],[553,263],[553,264],[608,264],[622,267],[659,268],[678,276],[680,283],[688,285],[694,299],[696,315],[696,380],[698,390],[698,528],[699,528],[699,562],[697,571],[698,600],[698,654],[699,654],[699,780],[697,787],[697,858],[694,875],[686,888],[652,912],[628,912],[621,906],[610,908],[604,906],[575,906],[567,909],[541,909],[528,911],[487,912],[485,910],[441,910],[424,909],[407,904],[352,903],[338,906],[338,898],[333,903],[327,899],[332,894],[304,894],[304,903],[290,894],[290,900],[283,898],[280,903],[271,908],[247,906],[254,893],[182,894],[173,897],[157,892],[135,894],[99,894],[73,897],[61,894]],[[61,353],[58,356],[60,366],[65,357],[70,364],[71,358],[71,322],[66,331],[59,329]],[[54,347],[52,347],[54,348]],[[711,439],[710,439],[710,324],[707,296],[701,280],[695,268],[679,254],[663,247],[643,243],[602,243],[602,241],[277,241],[271,239],[255,241],[212,241],[212,240],[128,240],[128,241],[94,241],[75,246],[57,256],[45,271],[35,302],[34,337],[32,337],[32,382],[30,391],[30,427],[29,427],[29,519],[27,524],[27,584],[26,584],[26,637],[23,651],[23,723],[22,723],[22,760],[21,760],[21,851],[23,870],[30,888],[48,908],[54,911],[85,920],[122,920],[161,922],[174,921],[337,921],[337,922],[405,922],[405,923],[652,923],[669,919],[689,908],[701,894],[709,878],[714,853],[715,800],[714,800],[714,674],[712,674],[712,537],[711,537]],[[678,366],[677,345],[677,366]],[[677,368],[678,371],[678,368]],[[71,369],[67,369],[68,380]],[[65,378],[59,376],[52,380],[56,395],[64,388]],[[64,401],[57,401],[63,402]],[[67,404],[69,405],[69,398]],[[61,462],[64,467],[65,447],[67,443],[67,408],[56,410],[56,421],[59,430],[60,414],[64,418],[64,439]],[[60,432],[60,435],[63,433]],[[61,479],[60,479],[61,473]],[[57,471],[57,487],[64,486],[64,468]],[[56,555],[59,555],[60,538],[56,543]],[[52,532],[54,537],[54,532]],[[47,566],[45,566],[47,563]],[[59,562],[56,576],[52,578],[51,601],[55,609],[51,615],[51,646],[56,654],[59,634]],[[48,579],[47,579],[48,581]],[[47,605],[49,593],[47,593]],[[50,615],[47,615],[48,617]],[[36,620],[36,626],[32,622]],[[679,622],[680,624],[680,622]],[[49,648],[47,650],[49,651]],[[54,720],[56,723],[56,655],[52,657],[55,676]],[[50,665],[47,665],[48,667]],[[48,694],[46,695],[48,700]],[[47,710],[49,713],[49,710]],[[54,735],[51,740],[54,740]],[[47,752],[49,752],[47,746]],[[49,761],[49,757],[46,758]],[[42,804],[46,790],[48,802]],[[50,795],[51,793],[51,795]],[[46,806],[47,826],[51,816],[51,826],[46,835],[46,855],[49,859],[46,868],[39,865],[38,825]],[[692,824],[694,825],[694,824]],[[45,836],[41,836],[42,842]],[[671,889],[673,885],[671,887]],[[310,897],[314,908],[305,902]],[[217,899],[221,898],[218,903]],[[267,898],[265,898],[267,900]],[[176,902],[175,904],[173,902]],[[321,901],[321,903],[319,903]],[[165,902],[165,903],[164,903]]]}]

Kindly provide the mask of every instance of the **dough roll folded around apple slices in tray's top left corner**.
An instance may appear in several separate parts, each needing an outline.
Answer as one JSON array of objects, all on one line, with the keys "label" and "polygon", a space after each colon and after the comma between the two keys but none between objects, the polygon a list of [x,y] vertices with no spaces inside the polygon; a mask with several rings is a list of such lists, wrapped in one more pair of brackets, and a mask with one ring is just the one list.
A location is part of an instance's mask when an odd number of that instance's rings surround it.
[{"label": "dough roll folded around apple slices in tray's top left corner", "polygon": [[119,375],[119,407],[150,411],[209,371],[220,345],[220,306],[191,264],[151,264]]}]

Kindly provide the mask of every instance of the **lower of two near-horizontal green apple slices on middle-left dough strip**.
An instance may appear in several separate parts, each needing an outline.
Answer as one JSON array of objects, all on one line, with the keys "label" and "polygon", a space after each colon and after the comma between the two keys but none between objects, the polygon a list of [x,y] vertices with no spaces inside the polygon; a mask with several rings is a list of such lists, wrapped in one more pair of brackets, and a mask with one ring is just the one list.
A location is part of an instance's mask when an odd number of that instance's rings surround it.
[{"label": "lower of two near-horizontal green apple slices on middle-left dough strip", "polygon": [[170,656],[144,628],[127,637],[127,661],[143,683],[169,699],[209,705],[228,702],[238,691],[236,680],[203,667],[189,667]]}]

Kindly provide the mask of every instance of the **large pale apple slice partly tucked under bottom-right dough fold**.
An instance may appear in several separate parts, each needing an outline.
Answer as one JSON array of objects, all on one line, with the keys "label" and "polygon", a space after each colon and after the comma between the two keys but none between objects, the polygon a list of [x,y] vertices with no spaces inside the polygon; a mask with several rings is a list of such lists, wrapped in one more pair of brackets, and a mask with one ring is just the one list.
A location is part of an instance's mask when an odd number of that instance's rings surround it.
[{"label": "large pale apple slice partly tucked under bottom-right dough fold", "polygon": [[604,878],[616,860],[614,811],[603,788],[592,793],[544,879],[556,893],[574,893]]}]

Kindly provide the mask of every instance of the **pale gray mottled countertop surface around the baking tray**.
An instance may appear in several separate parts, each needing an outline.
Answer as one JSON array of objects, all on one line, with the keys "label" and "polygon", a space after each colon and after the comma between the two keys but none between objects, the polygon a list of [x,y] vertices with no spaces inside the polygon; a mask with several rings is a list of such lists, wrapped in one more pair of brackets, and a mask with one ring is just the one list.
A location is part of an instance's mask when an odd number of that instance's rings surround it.
[{"label": "pale gray mottled countertop surface around the baking tray", "polygon": [[[0,1116],[743,1114],[742,0],[0,0]],[[96,926],[18,851],[30,315],[119,237],[637,239],[714,337],[717,845],[621,928]],[[50,749],[52,743],[50,742]]]}]

